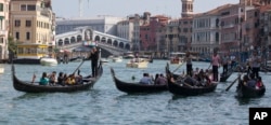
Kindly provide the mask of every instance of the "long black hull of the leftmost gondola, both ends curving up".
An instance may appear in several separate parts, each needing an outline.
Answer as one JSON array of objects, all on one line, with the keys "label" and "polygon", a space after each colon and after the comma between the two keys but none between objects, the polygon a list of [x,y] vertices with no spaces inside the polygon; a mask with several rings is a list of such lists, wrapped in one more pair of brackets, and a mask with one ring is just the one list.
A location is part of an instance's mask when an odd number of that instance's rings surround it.
[{"label": "long black hull of the leftmost gondola, both ends curving up", "polygon": [[100,63],[98,68],[98,75],[95,78],[91,78],[90,75],[83,77],[82,81],[83,84],[77,84],[77,85],[59,85],[59,86],[50,86],[50,85],[39,85],[38,82],[25,82],[18,80],[18,78],[15,75],[15,68],[12,64],[12,80],[13,80],[13,87],[16,91],[20,92],[26,92],[26,93],[54,93],[54,92],[62,92],[62,93],[68,93],[68,92],[77,92],[77,91],[85,91],[93,87],[95,82],[101,78],[103,74],[103,67]]}]

